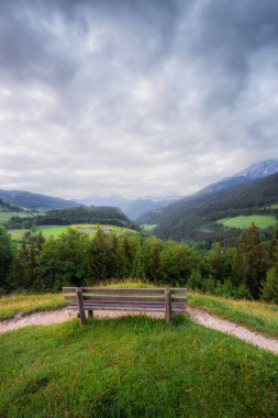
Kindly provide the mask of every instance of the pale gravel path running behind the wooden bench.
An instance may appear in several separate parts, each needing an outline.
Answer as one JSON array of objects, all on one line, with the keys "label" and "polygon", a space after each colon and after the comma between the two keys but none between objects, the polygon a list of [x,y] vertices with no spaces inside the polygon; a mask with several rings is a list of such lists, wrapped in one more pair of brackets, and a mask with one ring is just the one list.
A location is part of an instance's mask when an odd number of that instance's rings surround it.
[{"label": "pale gravel path running behind the wooden bench", "polygon": [[[249,329],[243,326],[238,326],[234,322],[229,321],[227,319],[221,319],[214,315],[208,314],[207,311],[200,308],[187,306],[187,312],[194,322],[198,322],[207,328],[212,328],[214,330],[229,333],[241,340],[247,341],[253,345],[259,346],[260,349],[268,350],[275,354],[278,354],[278,340],[275,338],[265,337],[259,332],[251,331]],[[96,311],[94,316],[99,318],[115,318],[126,314],[138,315],[138,312],[109,312],[100,310]],[[153,317],[155,316],[157,318],[162,317],[162,314],[148,315]],[[26,316],[16,316],[0,322],[0,333],[27,326],[48,326],[51,323],[64,322],[68,321],[71,318],[76,318],[76,311],[73,311],[67,308],[35,312]]]}]

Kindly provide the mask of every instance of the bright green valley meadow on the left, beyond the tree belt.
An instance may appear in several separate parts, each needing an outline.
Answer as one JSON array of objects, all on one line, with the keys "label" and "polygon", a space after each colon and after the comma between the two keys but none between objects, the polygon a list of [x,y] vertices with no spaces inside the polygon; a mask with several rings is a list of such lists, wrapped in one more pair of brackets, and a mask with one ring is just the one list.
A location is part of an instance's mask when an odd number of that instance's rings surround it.
[{"label": "bright green valley meadow on the left, beyond the tree belt", "polygon": [[[73,224],[73,226],[43,226],[43,227],[37,227],[35,232],[32,232],[32,234],[38,233],[42,231],[42,234],[45,239],[51,238],[51,237],[58,237],[63,232],[65,232],[68,228],[74,228],[80,232],[86,232],[89,233],[90,235],[93,235],[96,233],[97,224]],[[121,227],[114,227],[114,226],[101,226],[104,232],[114,232],[115,234],[136,234],[137,231],[134,231],[132,229],[127,228],[121,228]],[[25,229],[16,229],[16,230],[10,230],[9,231],[12,235],[12,239],[16,242],[22,241],[24,233],[27,232]]]}]

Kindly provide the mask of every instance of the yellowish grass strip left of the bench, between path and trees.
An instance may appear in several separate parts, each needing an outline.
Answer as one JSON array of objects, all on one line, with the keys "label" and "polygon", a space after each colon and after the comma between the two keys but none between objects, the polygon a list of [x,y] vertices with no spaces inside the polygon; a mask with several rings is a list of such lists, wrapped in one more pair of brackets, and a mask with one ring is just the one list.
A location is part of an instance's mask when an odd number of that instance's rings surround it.
[{"label": "yellowish grass strip left of the bench, between path and trees", "polygon": [[67,305],[63,294],[16,294],[0,298],[0,320],[16,314],[31,314],[37,310],[56,309]]}]

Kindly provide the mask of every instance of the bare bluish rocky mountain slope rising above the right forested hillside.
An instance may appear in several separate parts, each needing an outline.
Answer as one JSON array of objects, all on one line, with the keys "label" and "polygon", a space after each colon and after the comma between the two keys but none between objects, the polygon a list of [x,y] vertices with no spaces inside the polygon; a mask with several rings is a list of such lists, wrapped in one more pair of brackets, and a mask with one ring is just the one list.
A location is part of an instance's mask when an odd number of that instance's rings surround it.
[{"label": "bare bluish rocky mountain slope rising above the right forested hillside", "polygon": [[199,194],[222,190],[225,188],[245,185],[253,183],[256,179],[270,176],[271,174],[278,173],[278,160],[266,160],[259,163],[252,164],[247,168],[244,168],[240,173],[231,177],[221,179],[220,182],[213,183],[201,189]]}]

